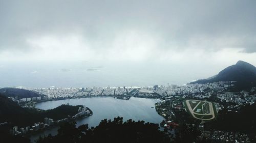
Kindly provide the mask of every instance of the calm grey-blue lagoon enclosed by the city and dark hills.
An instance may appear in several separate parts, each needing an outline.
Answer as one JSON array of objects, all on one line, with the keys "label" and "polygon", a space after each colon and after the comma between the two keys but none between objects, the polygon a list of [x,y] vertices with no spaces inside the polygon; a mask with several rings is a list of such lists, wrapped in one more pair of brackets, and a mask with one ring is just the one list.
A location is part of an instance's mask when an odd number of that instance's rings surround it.
[{"label": "calm grey-blue lagoon enclosed by the city and dark hills", "polygon": [[[158,115],[155,109],[155,103],[158,99],[134,98],[129,100],[114,99],[111,97],[95,97],[95,98],[80,98],[66,99],[58,101],[47,101],[37,103],[35,106],[40,109],[53,109],[61,104],[84,105],[93,111],[93,116],[77,120],[77,126],[88,124],[89,127],[97,126],[103,119],[113,120],[115,117],[123,117],[124,121],[133,119],[135,121],[143,120],[145,122],[160,123],[164,119]],[[151,108],[154,107],[154,108]],[[31,141],[34,141],[40,135],[57,134],[58,127],[41,132],[31,136]]]}]

